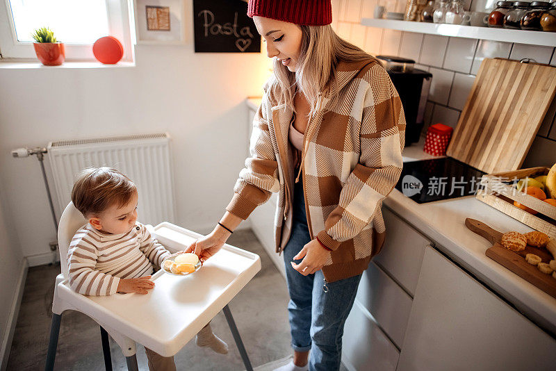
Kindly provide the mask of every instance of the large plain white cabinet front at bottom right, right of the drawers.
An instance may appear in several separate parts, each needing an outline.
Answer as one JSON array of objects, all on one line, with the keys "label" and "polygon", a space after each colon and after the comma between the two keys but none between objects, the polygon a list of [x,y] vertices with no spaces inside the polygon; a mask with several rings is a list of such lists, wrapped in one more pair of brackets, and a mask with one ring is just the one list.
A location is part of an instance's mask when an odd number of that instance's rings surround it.
[{"label": "large plain white cabinet front at bottom right, right of the drawers", "polygon": [[427,247],[398,370],[555,368],[555,339]]}]

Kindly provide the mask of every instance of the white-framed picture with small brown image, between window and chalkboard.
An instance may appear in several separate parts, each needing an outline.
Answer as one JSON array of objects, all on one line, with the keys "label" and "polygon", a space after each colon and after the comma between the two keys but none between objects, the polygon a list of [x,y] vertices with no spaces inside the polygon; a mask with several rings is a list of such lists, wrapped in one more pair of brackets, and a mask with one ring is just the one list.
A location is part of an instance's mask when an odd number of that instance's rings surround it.
[{"label": "white-framed picture with small brown image, between window and chalkboard", "polygon": [[185,43],[183,0],[134,0],[137,44]]}]

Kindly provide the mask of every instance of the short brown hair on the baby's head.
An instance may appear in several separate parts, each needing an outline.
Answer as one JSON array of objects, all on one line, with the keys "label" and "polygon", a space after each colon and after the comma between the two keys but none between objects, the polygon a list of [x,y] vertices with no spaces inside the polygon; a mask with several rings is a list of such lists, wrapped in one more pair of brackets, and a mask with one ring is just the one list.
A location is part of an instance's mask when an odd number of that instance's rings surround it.
[{"label": "short brown hair on the baby's head", "polygon": [[110,167],[81,170],[72,189],[72,201],[84,217],[99,215],[113,204],[129,203],[137,187],[127,176]]}]

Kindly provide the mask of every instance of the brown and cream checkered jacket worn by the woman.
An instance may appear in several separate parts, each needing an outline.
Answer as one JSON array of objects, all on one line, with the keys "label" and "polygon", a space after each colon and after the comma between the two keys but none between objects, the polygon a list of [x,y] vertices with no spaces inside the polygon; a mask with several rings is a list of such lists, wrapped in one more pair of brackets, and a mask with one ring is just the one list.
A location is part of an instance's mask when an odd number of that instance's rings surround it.
[{"label": "brown and cream checkered jacket worn by the woman", "polygon": [[[376,60],[340,63],[336,72],[338,96],[319,96],[320,109],[307,124],[301,178],[311,238],[318,236],[332,249],[322,267],[329,282],[361,274],[384,245],[382,200],[402,172],[405,132],[398,92]],[[265,88],[253,122],[251,157],[226,208],[245,220],[271,192],[279,192],[278,253],[292,229],[292,115],[293,108],[277,105]]]}]

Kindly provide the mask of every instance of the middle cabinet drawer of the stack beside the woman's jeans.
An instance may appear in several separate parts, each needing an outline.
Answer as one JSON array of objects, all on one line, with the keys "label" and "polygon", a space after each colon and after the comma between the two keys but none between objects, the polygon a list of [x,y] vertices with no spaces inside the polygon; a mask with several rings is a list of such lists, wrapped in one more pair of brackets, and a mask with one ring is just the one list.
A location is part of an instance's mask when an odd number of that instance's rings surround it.
[{"label": "middle cabinet drawer of the stack beside the woman's jeans", "polygon": [[377,320],[398,348],[402,347],[412,299],[375,263],[363,272],[356,300]]}]

